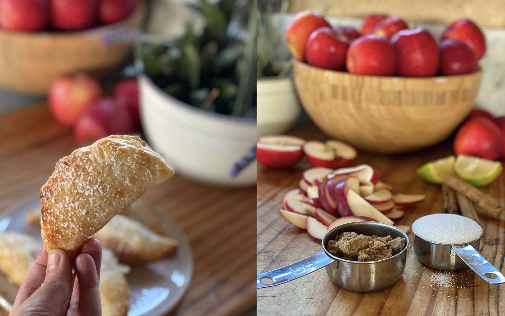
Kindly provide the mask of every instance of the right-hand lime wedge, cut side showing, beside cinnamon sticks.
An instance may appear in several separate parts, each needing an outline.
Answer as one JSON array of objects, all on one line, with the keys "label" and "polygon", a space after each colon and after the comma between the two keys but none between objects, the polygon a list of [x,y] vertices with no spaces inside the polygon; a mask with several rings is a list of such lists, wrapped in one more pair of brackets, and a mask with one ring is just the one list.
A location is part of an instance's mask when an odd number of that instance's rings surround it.
[{"label": "right-hand lime wedge, cut side showing, beside cinnamon sticks", "polygon": [[503,166],[499,161],[484,158],[458,155],[454,164],[456,174],[476,187],[484,187],[500,175]]}]

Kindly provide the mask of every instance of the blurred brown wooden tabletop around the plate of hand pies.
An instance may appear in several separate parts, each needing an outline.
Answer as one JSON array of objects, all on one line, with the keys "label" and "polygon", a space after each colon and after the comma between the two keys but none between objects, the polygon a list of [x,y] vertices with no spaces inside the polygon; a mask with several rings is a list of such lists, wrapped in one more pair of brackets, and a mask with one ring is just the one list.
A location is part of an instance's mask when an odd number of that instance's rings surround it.
[{"label": "blurred brown wooden tabletop around the plate of hand pies", "polygon": [[[0,116],[0,209],[38,193],[58,159],[78,147],[45,104]],[[255,191],[176,174],[142,195],[176,219],[193,250],[193,279],[174,315],[236,316],[254,306]]]}]

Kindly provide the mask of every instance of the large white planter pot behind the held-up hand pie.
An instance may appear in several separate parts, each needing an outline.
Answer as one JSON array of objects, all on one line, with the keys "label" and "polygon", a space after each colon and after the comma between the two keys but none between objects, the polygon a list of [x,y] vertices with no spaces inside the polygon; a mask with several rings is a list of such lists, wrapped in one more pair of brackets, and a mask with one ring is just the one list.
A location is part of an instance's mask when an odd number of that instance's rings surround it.
[{"label": "large white planter pot behind the held-up hand pie", "polygon": [[149,144],[176,173],[223,186],[256,184],[256,163],[229,176],[234,162],[256,144],[256,120],[207,112],[181,102],[139,76],[140,118]]}]

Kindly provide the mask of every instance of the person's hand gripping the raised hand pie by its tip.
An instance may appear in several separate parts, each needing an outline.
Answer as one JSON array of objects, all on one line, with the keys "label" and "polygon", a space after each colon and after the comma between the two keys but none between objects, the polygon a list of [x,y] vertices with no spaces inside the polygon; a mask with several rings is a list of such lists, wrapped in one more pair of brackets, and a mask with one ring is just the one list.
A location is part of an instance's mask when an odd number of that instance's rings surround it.
[{"label": "person's hand gripping the raised hand pie by its tip", "polygon": [[47,253],[42,247],[19,288],[10,315],[100,316],[101,262],[102,246],[94,238],[82,245],[74,264],[63,250]]}]

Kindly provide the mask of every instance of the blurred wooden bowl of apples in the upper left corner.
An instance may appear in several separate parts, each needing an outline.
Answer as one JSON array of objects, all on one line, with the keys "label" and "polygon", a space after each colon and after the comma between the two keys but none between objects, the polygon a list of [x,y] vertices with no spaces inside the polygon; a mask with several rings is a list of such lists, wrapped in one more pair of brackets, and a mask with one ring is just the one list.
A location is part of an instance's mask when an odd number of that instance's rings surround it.
[{"label": "blurred wooden bowl of apples in the upper left corner", "polygon": [[119,67],[131,51],[131,40],[106,44],[104,36],[140,28],[145,1],[113,24],[75,32],[12,32],[0,30],[0,86],[28,95],[45,95],[53,79],[87,71],[104,76]]}]

